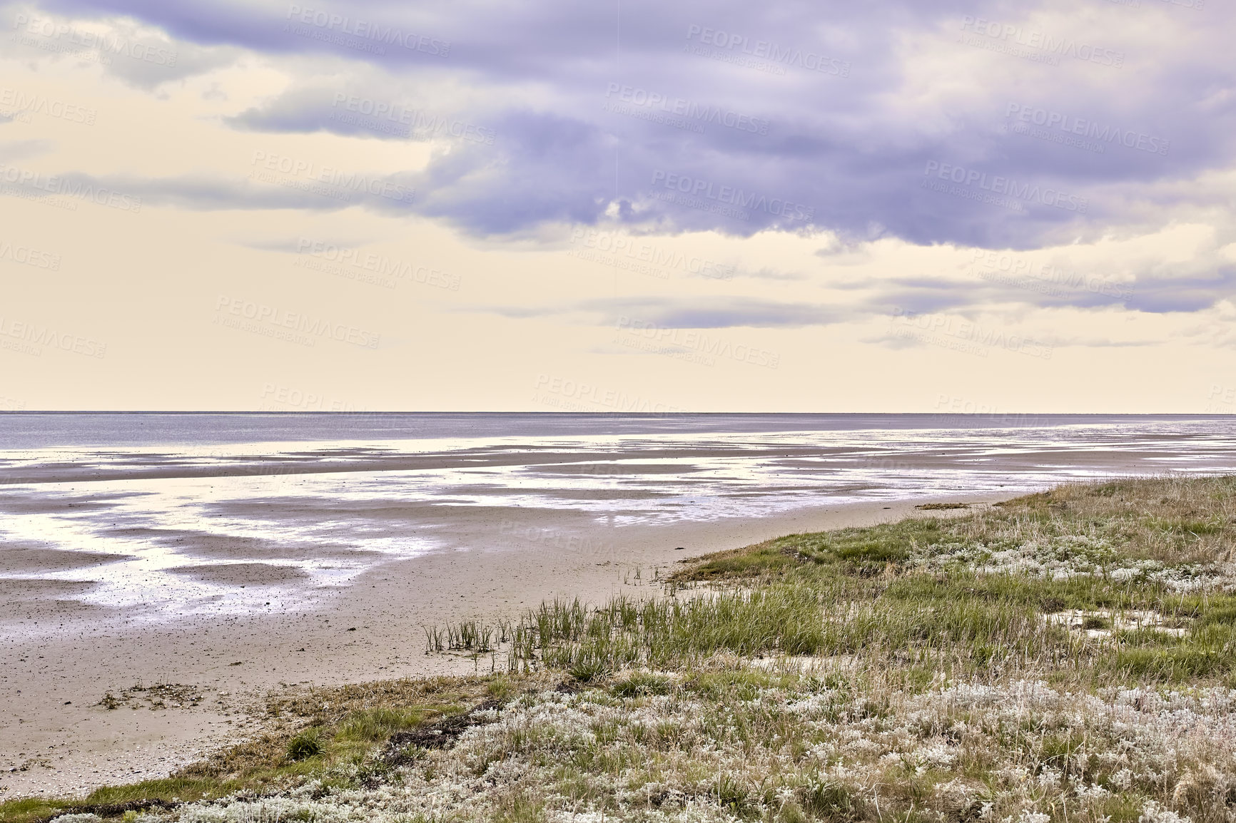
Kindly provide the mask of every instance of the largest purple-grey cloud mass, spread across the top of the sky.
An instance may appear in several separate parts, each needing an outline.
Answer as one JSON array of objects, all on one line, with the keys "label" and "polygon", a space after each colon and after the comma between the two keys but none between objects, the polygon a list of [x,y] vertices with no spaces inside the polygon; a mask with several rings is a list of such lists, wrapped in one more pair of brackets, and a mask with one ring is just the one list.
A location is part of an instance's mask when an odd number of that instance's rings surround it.
[{"label": "largest purple-grey cloud mass, spread across the top of the sky", "polygon": [[[332,79],[293,85],[237,129],[397,140],[331,117],[335,95],[466,85],[438,112],[497,138],[436,153],[410,208],[480,236],[575,221],[1033,248],[1167,221],[1209,196],[1190,182],[1232,161],[1236,10],[1221,4],[47,7],[329,58]],[[967,22],[980,19],[1004,33]]]}]

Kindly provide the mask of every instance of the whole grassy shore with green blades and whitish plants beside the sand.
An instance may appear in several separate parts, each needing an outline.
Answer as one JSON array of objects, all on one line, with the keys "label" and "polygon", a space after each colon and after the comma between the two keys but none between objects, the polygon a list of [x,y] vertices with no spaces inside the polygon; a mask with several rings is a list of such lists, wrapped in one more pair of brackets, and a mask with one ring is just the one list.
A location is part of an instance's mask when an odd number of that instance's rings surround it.
[{"label": "whole grassy shore with green blades and whitish plants beside the sand", "polygon": [[150,817],[1236,821],[1234,538],[1236,478],[1149,478],[719,552],[514,615],[502,675],[293,713],[179,797],[243,792]]}]

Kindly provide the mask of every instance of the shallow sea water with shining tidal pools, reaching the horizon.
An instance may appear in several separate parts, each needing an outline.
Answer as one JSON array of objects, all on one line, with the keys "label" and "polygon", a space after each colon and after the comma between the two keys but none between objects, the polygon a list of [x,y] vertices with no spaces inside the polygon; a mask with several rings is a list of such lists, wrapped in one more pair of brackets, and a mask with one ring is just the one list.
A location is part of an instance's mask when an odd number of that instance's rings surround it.
[{"label": "shallow sea water with shining tidal pools, reaching the horizon", "polygon": [[629,528],[1167,472],[1236,472],[1236,419],[10,412],[0,592],[150,620],[313,608],[431,551],[620,554]]}]

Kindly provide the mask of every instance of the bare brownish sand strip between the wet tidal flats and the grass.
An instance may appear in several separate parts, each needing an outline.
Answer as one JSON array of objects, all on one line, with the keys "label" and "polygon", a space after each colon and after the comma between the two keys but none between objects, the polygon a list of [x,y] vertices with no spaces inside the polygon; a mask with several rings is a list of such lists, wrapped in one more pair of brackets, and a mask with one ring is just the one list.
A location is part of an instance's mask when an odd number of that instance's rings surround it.
[{"label": "bare brownish sand strip between the wet tidal flats and the grass", "polygon": [[[991,502],[934,497],[931,500]],[[152,623],[120,609],[82,607],[62,585],[30,581],[5,589],[0,628],[0,798],[79,795],[116,782],[164,776],[237,735],[246,707],[268,690],[435,673],[471,673],[480,662],[426,655],[424,625],[465,618],[509,619],[555,597],[601,601],[616,592],[653,596],[685,557],[797,531],[868,525],[913,514],[916,503],[802,508],[759,519],[596,529],[564,536],[561,512],[456,509],[451,547],[377,565],[318,608],[278,603],[245,615]],[[965,509],[932,512],[959,514]],[[494,540],[494,518],[504,518]],[[679,549],[682,547],[682,549]],[[286,581],[295,572],[256,562],[250,547],[211,547],[236,562],[188,567],[237,586]],[[77,567],[106,557],[6,552],[11,568]],[[640,570],[637,580],[634,570]],[[12,581],[10,581],[12,583]],[[11,607],[11,608],[10,608]],[[486,671],[488,661],[485,661]],[[197,706],[151,701],[106,709],[99,701],[133,685],[194,687]]]}]

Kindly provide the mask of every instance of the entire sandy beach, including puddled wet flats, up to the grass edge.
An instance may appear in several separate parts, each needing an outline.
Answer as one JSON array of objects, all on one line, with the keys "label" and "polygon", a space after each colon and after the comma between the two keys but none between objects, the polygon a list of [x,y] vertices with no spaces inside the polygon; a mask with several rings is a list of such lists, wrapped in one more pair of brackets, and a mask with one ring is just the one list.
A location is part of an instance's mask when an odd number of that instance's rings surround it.
[{"label": "entire sandy beach, including puddled wet flats, up to the grass edge", "polygon": [[653,596],[680,560],[927,502],[1236,467],[1231,423],[739,423],[0,451],[0,797],[166,775],[252,732],[269,690],[504,664],[428,656],[424,627]]}]

